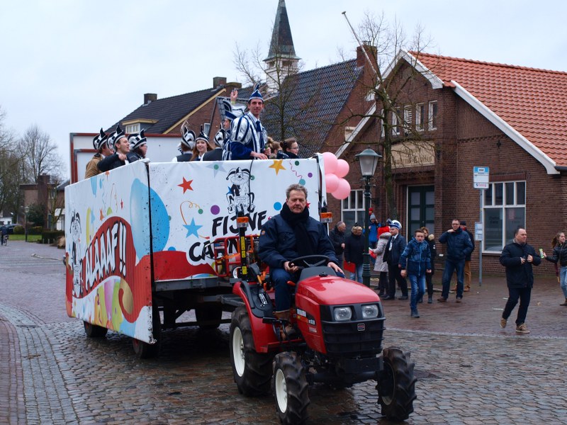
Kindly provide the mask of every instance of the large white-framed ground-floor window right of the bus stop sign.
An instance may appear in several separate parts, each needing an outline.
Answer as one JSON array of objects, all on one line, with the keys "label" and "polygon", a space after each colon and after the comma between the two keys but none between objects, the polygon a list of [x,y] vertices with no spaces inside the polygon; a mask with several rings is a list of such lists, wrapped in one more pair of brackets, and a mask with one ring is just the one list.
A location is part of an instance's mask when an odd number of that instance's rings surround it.
[{"label": "large white-framed ground-floor window right of the bus stop sign", "polygon": [[[507,184],[513,183],[513,198],[514,198],[514,202],[513,203],[507,203]],[[498,204],[496,202],[496,196],[495,196],[495,188],[498,185],[502,185],[502,203]],[[524,203],[518,203],[518,186],[523,185],[524,187]],[[490,196],[490,204],[487,203],[487,191],[490,191],[491,196]],[[502,249],[498,250],[498,249],[485,249],[485,244],[486,244],[486,231],[488,229],[488,218],[486,217],[486,212],[488,210],[500,210],[501,211],[501,217],[502,217],[502,246],[506,246],[507,244],[510,243],[511,238],[510,235],[512,234],[512,229],[507,229],[507,210],[511,210],[512,208],[523,208],[524,209],[524,222],[523,224],[520,223],[520,225],[522,227],[524,227],[526,225],[526,202],[527,202],[527,182],[525,180],[515,180],[515,181],[494,181],[494,182],[490,182],[489,183],[489,188],[485,191],[483,191],[483,223],[485,223],[485,225],[483,225],[483,242],[482,242],[482,249],[483,249],[483,253],[487,253],[487,254],[500,254],[502,252]],[[512,226],[514,227],[514,229],[517,226]],[[508,230],[508,236],[506,237],[507,234],[507,230]],[[512,236],[513,237],[513,236]]]}]

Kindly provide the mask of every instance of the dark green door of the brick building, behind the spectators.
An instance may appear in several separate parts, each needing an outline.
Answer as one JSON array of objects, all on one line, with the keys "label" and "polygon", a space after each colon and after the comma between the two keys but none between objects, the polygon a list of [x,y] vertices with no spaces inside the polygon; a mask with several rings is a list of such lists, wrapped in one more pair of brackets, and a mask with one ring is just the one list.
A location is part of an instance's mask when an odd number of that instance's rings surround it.
[{"label": "dark green door of the brick building, behind the spectators", "polygon": [[427,227],[430,234],[435,233],[435,188],[434,186],[410,186],[408,188],[408,239],[415,229]]}]

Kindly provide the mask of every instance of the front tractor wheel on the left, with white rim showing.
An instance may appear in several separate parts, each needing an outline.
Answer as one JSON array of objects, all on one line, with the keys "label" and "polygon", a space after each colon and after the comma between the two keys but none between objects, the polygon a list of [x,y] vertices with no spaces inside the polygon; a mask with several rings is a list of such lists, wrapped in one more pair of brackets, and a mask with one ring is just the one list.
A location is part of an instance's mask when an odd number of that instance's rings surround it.
[{"label": "front tractor wheel on the left, with white rim showing", "polygon": [[310,399],[305,368],[293,351],[283,351],[274,358],[272,388],[281,423],[303,424],[307,420]]}]

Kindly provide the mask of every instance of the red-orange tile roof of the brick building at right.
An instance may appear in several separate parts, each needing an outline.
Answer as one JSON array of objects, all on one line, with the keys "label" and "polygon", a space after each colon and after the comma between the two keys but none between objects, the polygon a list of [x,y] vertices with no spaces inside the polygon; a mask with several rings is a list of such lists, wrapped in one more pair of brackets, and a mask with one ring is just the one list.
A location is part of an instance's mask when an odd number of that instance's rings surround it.
[{"label": "red-orange tile roof of the brick building at right", "polygon": [[567,72],[411,53],[444,85],[456,81],[557,166],[567,166]]}]

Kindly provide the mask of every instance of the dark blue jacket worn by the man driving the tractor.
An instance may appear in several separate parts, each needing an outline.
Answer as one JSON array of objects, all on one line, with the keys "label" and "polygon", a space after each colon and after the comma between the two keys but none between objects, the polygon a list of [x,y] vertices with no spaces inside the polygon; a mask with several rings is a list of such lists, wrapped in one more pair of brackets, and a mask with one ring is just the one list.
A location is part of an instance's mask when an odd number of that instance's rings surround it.
[{"label": "dark blue jacket worn by the man driving the tractor", "polygon": [[[307,232],[313,241],[313,246],[317,246],[317,254],[326,255],[330,261],[338,264],[339,260],[325,226],[313,217],[309,217]],[[283,268],[283,263],[299,256],[296,249],[296,234],[281,215],[274,215],[262,226],[258,254],[270,268]]]}]

